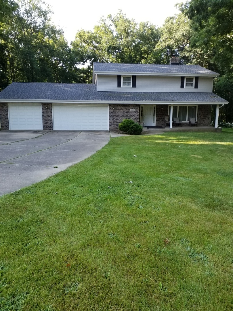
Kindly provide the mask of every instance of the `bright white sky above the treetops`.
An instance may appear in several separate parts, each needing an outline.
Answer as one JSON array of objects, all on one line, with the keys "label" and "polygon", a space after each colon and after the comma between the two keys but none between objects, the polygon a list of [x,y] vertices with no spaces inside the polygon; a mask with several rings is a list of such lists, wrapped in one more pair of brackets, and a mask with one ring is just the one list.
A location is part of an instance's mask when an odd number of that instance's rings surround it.
[{"label": "bright white sky above the treetops", "polygon": [[118,9],[121,9],[127,18],[134,19],[137,22],[151,21],[156,26],[162,26],[166,17],[179,12],[175,8],[175,4],[182,2],[182,0],[149,0],[144,2],[132,0],[44,1],[52,7],[54,12],[52,22],[63,28],[68,44],[75,39],[78,30],[81,28],[93,30],[101,16],[115,15]]}]

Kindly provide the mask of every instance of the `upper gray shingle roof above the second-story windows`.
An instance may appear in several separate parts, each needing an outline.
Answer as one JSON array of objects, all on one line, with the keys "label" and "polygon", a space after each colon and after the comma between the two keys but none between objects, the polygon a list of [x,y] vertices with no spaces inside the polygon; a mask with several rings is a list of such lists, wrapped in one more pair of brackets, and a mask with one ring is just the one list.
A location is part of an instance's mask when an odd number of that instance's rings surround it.
[{"label": "upper gray shingle roof above the second-story windows", "polygon": [[203,68],[198,65],[158,65],[158,64],[118,64],[118,63],[93,63],[96,72],[116,72],[117,73],[168,73],[168,74],[195,74],[218,75],[218,73]]}]

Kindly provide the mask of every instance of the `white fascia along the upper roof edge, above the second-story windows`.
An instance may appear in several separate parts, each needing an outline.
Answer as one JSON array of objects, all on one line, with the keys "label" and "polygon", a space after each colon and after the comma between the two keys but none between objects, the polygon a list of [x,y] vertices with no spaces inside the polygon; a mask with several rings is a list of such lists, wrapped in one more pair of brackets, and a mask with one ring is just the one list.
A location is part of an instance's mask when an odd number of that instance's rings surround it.
[{"label": "white fascia along the upper roof edge, above the second-story windows", "polygon": [[170,77],[218,77],[219,73],[168,73],[168,72],[112,72],[112,71],[95,71],[97,75],[137,75],[137,76],[170,76]]}]

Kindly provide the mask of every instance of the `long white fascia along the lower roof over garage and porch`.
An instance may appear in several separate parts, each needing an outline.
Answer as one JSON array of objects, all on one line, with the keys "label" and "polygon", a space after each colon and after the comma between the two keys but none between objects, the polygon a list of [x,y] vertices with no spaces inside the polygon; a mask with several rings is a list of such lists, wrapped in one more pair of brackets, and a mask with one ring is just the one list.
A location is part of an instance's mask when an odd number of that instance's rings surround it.
[{"label": "long white fascia along the lower roof over garage and porch", "polygon": [[219,101],[219,102],[198,102],[198,101],[168,101],[168,100],[34,100],[34,99],[0,99],[1,102],[11,102],[11,103],[21,103],[21,102],[30,102],[30,103],[64,103],[64,104],[197,104],[197,105],[227,105],[229,101]]}]

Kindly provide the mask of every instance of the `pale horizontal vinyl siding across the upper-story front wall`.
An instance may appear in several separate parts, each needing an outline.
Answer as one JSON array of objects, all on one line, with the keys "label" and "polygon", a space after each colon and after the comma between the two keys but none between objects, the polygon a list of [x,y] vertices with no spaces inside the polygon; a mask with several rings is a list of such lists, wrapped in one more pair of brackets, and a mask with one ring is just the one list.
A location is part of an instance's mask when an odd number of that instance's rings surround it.
[{"label": "pale horizontal vinyl siding across the upper-story front wall", "polygon": [[112,92],[212,92],[213,78],[199,77],[198,89],[180,88],[180,77],[136,76],[136,87],[117,87],[117,76],[98,75],[98,91]]}]

